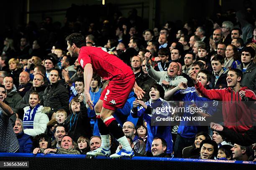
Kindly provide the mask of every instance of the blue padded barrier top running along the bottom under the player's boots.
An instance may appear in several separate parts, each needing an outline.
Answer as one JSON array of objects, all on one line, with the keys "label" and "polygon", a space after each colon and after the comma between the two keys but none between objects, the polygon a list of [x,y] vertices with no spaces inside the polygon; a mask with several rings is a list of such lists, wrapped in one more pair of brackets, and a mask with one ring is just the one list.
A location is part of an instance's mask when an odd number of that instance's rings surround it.
[{"label": "blue padded barrier top running along the bottom under the player's boots", "polygon": [[[30,157],[30,158],[80,158],[85,159],[86,155],[63,155],[63,154],[47,154],[38,153],[0,153],[0,157]],[[1,158],[0,158],[1,159]],[[109,157],[98,156],[96,159],[111,159]],[[184,159],[184,158],[155,158],[155,157],[138,157],[122,158],[124,160],[151,160],[151,161],[174,161],[174,162],[197,162],[197,163],[236,163],[236,164],[255,164],[252,161],[240,160],[201,160],[201,159]]]}]

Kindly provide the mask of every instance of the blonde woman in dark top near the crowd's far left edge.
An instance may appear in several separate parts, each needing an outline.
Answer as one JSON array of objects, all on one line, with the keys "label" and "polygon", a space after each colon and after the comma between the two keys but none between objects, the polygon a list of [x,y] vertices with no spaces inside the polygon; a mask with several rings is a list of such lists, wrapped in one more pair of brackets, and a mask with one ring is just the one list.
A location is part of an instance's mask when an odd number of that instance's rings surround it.
[{"label": "blonde woman in dark top near the crowd's far left edge", "polygon": [[13,75],[13,83],[16,87],[19,87],[19,77],[20,72],[22,72],[22,69],[20,68],[20,62],[16,58],[11,58],[8,62],[9,69],[11,74]]}]

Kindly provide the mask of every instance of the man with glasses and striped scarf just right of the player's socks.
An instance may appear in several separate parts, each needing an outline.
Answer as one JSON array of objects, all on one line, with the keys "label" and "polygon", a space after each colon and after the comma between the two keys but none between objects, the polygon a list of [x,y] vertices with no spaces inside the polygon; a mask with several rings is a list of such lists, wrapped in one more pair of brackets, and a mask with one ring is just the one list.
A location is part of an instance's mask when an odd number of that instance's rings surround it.
[{"label": "man with glasses and striped scarf just right of the player's socks", "polygon": [[146,155],[146,144],[136,134],[135,126],[132,122],[125,122],[123,124],[123,133],[133,140],[134,151],[141,155]]}]

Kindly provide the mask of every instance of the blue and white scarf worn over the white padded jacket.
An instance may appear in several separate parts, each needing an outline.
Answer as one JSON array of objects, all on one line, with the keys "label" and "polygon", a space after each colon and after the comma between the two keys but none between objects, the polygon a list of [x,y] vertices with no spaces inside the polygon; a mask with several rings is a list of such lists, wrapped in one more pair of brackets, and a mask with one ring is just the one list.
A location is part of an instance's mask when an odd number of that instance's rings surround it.
[{"label": "blue and white scarf worn over the white padded jacket", "polygon": [[[33,124],[34,124],[34,118],[36,115],[36,111],[40,105],[37,104],[36,107],[32,108],[29,107],[29,110],[27,110],[24,113],[23,117],[23,129],[33,129]],[[33,110],[33,113],[31,114],[31,111]]]}]

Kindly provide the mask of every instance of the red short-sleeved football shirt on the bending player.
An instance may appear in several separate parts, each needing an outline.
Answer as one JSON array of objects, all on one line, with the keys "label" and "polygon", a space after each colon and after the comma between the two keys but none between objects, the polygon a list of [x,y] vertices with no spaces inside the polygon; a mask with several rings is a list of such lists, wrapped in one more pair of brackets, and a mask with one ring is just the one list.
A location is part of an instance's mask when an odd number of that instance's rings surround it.
[{"label": "red short-sleeved football shirt on the bending player", "polygon": [[104,47],[81,47],[78,61],[83,68],[87,63],[92,64],[93,71],[105,80],[123,79],[134,74],[131,67]]}]

